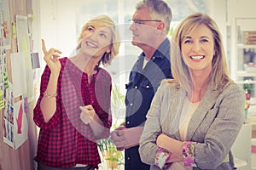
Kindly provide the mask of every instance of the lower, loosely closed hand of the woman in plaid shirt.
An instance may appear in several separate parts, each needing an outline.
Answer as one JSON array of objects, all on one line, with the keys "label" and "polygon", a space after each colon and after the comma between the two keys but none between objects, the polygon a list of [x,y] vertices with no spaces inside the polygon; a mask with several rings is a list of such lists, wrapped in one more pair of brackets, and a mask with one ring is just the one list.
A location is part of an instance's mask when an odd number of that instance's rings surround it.
[{"label": "lower, loosely closed hand of the woman in plaid shirt", "polygon": [[84,107],[79,106],[80,110],[82,111],[80,114],[80,119],[84,124],[89,124],[93,119],[94,116],[96,115],[95,110],[93,109],[92,105],[85,105]]}]

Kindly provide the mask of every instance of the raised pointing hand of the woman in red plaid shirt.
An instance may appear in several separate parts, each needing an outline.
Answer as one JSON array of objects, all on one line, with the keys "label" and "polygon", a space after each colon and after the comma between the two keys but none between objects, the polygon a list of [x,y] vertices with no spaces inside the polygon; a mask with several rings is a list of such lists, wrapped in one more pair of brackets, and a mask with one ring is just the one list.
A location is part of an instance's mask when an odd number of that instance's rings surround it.
[{"label": "raised pointing hand of the woman in red plaid shirt", "polygon": [[61,71],[61,62],[59,61],[61,51],[55,48],[50,48],[49,51],[47,51],[44,39],[42,39],[42,49],[44,52],[44,61],[49,66],[51,73],[59,74]]}]

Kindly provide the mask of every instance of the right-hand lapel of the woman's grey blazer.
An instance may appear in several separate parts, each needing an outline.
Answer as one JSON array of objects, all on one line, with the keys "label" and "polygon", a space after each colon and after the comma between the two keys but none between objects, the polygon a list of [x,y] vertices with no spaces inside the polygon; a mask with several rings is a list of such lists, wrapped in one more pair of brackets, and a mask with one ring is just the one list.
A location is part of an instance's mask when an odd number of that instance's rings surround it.
[{"label": "right-hand lapel of the woman's grey blazer", "polygon": [[187,140],[191,140],[195,130],[201,124],[202,120],[212,108],[212,105],[216,103],[216,99],[218,97],[218,90],[212,90],[212,88],[207,88],[207,92],[204,98],[201,100],[201,103],[198,105],[197,109],[195,110],[194,115],[192,116],[189,127],[188,127],[188,136]]}]

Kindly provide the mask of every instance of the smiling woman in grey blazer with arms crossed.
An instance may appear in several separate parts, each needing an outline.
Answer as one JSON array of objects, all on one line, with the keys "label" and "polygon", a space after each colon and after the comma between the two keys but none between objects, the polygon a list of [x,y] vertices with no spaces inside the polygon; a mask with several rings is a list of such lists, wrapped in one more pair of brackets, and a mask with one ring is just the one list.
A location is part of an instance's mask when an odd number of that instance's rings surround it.
[{"label": "smiling woman in grey blazer with arms crossed", "polygon": [[218,26],[190,14],[172,36],[174,79],[158,88],[140,139],[150,169],[234,169],[230,148],[244,121],[245,93],[230,79]]}]

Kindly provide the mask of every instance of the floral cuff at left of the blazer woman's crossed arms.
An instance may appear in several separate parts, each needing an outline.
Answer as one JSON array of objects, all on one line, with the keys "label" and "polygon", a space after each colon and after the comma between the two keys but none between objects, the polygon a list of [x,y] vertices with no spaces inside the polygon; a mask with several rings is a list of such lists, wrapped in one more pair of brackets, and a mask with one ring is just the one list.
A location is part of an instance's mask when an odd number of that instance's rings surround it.
[{"label": "floral cuff at left of the blazer woman's crossed arms", "polygon": [[164,148],[159,148],[154,159],[154,165],[160,167],[160,169],[167,169],[171,165],[171,163],[168,163],[166,161],[170,160],[171,156],[172,153],[170,153],[168,150]]}]

